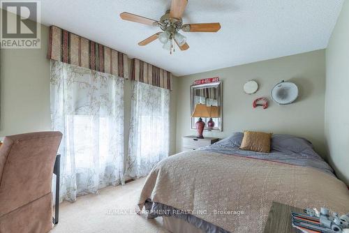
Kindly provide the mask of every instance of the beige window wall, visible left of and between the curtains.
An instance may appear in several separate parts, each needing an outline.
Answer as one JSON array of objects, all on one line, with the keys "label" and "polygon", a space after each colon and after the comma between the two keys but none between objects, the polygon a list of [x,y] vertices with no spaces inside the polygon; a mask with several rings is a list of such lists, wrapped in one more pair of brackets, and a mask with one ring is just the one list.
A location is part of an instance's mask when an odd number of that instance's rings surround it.
[{"label": "beige window wall, visible left of and between the curtains", "polygon": [[[46,59],[48,27],[41,27],[40,50],[1,50],[0,137],[51,130],[50,61]],[[131,66],[130,66],[131,68]],[[176,112],[177,77],[173,77],[170,107]],[[124,87],[124,151],[128,150],[131,80]],[[170,116],[170,154],[176,147],[176,114]]]}]

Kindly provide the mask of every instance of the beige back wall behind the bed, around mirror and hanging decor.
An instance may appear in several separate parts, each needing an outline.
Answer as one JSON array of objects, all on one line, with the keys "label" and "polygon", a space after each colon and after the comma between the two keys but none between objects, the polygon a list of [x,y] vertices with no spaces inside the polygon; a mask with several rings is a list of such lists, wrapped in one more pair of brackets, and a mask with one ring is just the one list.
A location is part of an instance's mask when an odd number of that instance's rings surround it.
[{"label": "beige back wall behind the bed, around mirror and hanging decor", "polygon": [[[325,157],[325,50],[179,77],[177,151],[181,150],[182,136],[195,135],[195,130],[190,130],[191,84],[216,76],[223,81],[223,132],[205,131],[204,136],[222,138],[243,130],[298,135],[311,140],[315,150]],[[248,80],[258,82],[257,93],[244,93],[243,86]],[[292,105],[277,105],[269,97],[281,80],[290,80],[299,87],[300,96]],[[253,109],[253,100],[261,96],[269,98],[269,108]]]}]

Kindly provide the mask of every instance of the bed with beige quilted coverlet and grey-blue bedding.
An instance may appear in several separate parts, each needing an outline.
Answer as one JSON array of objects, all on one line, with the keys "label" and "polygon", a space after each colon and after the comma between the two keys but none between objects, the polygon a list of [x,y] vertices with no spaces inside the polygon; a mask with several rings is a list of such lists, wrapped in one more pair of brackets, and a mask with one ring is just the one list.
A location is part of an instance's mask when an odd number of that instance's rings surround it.
[{"label": "bed with beige quilted coverlet and grey-blue bedding", "polygon": [[311,142],[273,135],[271,153],[257,153],[239,150],[242,137],[162,160],[147,176],[140,209],[176,233],[263,232],[272,202],[348,212],[348,187]]}]

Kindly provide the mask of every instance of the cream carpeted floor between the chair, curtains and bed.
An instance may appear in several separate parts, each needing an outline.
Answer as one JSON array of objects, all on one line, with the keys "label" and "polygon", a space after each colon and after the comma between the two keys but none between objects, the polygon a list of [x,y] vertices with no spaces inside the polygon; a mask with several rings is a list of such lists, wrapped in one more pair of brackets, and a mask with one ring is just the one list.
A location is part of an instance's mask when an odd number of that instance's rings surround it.
[{"label": "cream carpeted floor between the chair, curtains and bed", "polygon": [[166,232],[162,219],[148,220],[133,212],[145,179],[125,186],[108,187],[98,195],[78,197],[74,203],[63,202],[59,209],[59,223],[52,233],[108,233],[108,232]]}]

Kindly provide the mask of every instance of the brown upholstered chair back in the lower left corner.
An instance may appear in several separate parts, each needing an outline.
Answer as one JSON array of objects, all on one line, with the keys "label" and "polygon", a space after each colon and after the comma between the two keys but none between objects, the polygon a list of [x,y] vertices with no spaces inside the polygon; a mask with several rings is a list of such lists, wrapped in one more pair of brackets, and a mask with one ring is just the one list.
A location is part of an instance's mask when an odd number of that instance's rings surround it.
[{"label": "brown upholstered chair back in the lower left corner", "polygon": [[52,229],[52,172],[60,132],[5,137],[0,146],[0,233]]}]

